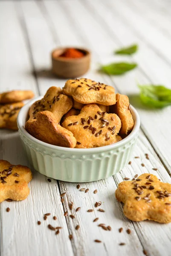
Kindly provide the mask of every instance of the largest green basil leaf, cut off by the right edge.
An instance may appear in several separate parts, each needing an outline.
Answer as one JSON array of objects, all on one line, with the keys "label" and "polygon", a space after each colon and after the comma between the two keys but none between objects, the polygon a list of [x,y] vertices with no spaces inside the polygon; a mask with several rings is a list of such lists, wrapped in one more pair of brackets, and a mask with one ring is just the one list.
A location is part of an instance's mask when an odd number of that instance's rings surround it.
[{"label": "largest green basil leaf, cut off by the right edge", "polygon": [[171,90],[162,85],[138,85],[141,102],[150,108],[164,108],[171,105]]}]

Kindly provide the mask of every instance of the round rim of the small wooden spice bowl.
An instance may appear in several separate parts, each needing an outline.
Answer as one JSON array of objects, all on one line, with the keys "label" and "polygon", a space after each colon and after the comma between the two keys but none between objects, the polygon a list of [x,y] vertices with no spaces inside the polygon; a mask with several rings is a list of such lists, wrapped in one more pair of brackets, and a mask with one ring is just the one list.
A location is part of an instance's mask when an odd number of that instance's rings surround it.
[{"label": "round rim of the small wooden spice bowl", "polygon": [[[54,58],[53,53],[55,51],[57,51],[57,50],[64,50],[64,49],[68,49],[68,48],[78,49],[78,50],[86,52],[86,54],[84,56],[82,56],[81,58],[64,58],[64,57],[59,57],[59,56]],[[74,47],[74,46],[73,47],[58,47],[58,48],[53,49],[52,52],[51,52],[51,56],[52,56],[52,59],[54,61],[63,61],[63,62],[66,62],[66,61],[70,61],[70,62],[71,61],[79,61],[79,60],[82,60],[84,58],[87,58],[88,56],[90,56],[90,54],[91,53],[90,53],[90,51],[88,49],[80,48],[80,47]]]}]

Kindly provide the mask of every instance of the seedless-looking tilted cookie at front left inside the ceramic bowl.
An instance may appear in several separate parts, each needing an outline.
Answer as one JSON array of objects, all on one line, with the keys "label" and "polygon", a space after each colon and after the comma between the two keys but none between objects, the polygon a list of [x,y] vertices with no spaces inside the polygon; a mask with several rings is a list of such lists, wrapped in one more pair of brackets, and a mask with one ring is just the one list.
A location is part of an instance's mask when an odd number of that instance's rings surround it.
[{"label": "seedless-looking tilted cookie at front left inside the ceramic bowl", "polygon": [[74,148],[75,137],[72,132],[63,128],[55,115],[50,111],[36,114],[36,119],[26,122],[26,131],[38,140],[61,147]]}]

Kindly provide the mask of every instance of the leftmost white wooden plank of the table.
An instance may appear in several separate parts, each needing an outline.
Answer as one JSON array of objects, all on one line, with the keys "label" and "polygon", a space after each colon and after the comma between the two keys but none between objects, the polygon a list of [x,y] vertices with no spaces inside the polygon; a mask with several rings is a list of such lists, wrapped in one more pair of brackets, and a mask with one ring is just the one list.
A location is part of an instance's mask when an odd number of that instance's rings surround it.
[{"label": "leftmost white wooden plank of the table", "polygon": [[[0,37],[3,38],[0,41],[0,90],[30,89],[37,94],[27,38],[20,23],[22,17],[17,17],[15,7],[12,1],[0,2]],[[17,131],[0,130],[0,159],[29,166]],[[47,177],[38,172],[33,171],[33,175],[26,200],[0,204],[0,255],[56,255],[56,252],[73,255],[58,185],[55,180],[47,182]],[[10,212],[6,212],[7,207]],[[43,221],[46,212],[52,215]],[[57,221],[52,220],[54,215],[58,217]],[[41,226],[38,226],[38,220],[42,222]],[[55,236],[55,232],[47,228],[48,224],[62,226],[60,236]]]}]

